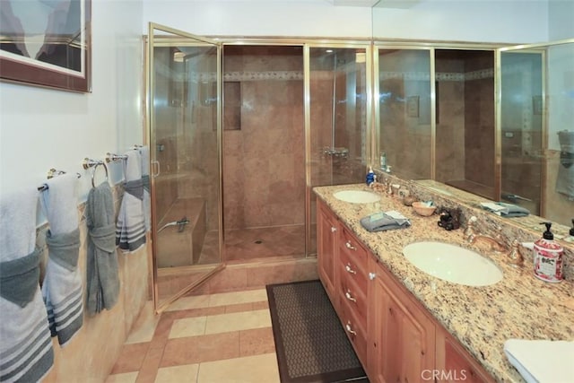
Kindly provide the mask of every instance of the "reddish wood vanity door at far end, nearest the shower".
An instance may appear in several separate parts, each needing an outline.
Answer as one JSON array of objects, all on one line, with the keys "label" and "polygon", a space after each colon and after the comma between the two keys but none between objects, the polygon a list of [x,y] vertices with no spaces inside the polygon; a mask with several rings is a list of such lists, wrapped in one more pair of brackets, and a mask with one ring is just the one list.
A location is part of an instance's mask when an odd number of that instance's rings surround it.
[{"label": "reddish wood vanity door at far end, nearest the shower", "polygon": [[335,215],[323,202],[317,200],[317,272],[335,308],[338,230]]}]

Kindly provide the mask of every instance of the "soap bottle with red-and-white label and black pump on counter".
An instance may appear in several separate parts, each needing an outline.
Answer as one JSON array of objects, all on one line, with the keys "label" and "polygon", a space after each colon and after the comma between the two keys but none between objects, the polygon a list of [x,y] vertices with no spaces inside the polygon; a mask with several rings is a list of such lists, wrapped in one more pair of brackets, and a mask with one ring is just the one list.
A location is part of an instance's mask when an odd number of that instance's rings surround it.
[{"label": "soap bottle with red-and-white label and black pump on counter", "polygon": [[564,279],[562,274],[562,254],[564,249],[560,243],[554,241],[550,228],[551,222],[544,222],[546,231],[543,238],[535,241],[535,277],[545,282],[558,283]]}]

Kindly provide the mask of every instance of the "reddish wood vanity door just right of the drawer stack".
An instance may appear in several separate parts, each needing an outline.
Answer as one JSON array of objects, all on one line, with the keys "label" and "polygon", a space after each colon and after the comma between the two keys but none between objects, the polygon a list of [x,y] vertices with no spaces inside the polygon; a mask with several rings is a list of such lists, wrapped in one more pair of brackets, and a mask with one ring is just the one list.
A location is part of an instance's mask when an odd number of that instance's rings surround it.
[{"label": "reddish wood vanity door just right of the drawer stack", "polygon": [[381,383],[425,381],[423,371],[434,370],[434,322],[382,265],[370,265],[377,275],[369,290],[369,377]]}]

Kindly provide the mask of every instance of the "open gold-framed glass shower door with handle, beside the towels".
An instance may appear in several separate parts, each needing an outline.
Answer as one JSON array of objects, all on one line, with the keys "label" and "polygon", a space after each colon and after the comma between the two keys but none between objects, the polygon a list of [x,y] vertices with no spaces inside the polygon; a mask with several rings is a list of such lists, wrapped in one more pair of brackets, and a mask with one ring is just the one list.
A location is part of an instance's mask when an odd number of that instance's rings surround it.
[{"label": "open gold-framed glass shower door with handle, beside the towels", "polygon": [[150,24],[148,123],[156,310],[222,268],[221,47]]}]

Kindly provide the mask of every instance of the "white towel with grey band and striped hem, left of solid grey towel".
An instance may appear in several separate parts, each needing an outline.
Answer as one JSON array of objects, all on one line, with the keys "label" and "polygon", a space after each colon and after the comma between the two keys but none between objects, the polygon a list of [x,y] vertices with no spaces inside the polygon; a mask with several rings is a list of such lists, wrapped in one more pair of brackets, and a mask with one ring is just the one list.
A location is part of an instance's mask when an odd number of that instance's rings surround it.
[{"label": "white towel with grey band and striped hem, left of solid grey towel", "polygon": [[42,297],[48,309],[50,332],[57,336],[62,346],[83,325],[82,274],[78,268],[77,180],[73,174],[48,179],[48,189],[40,197],[50,226],[46,233],[48,265]]}]

